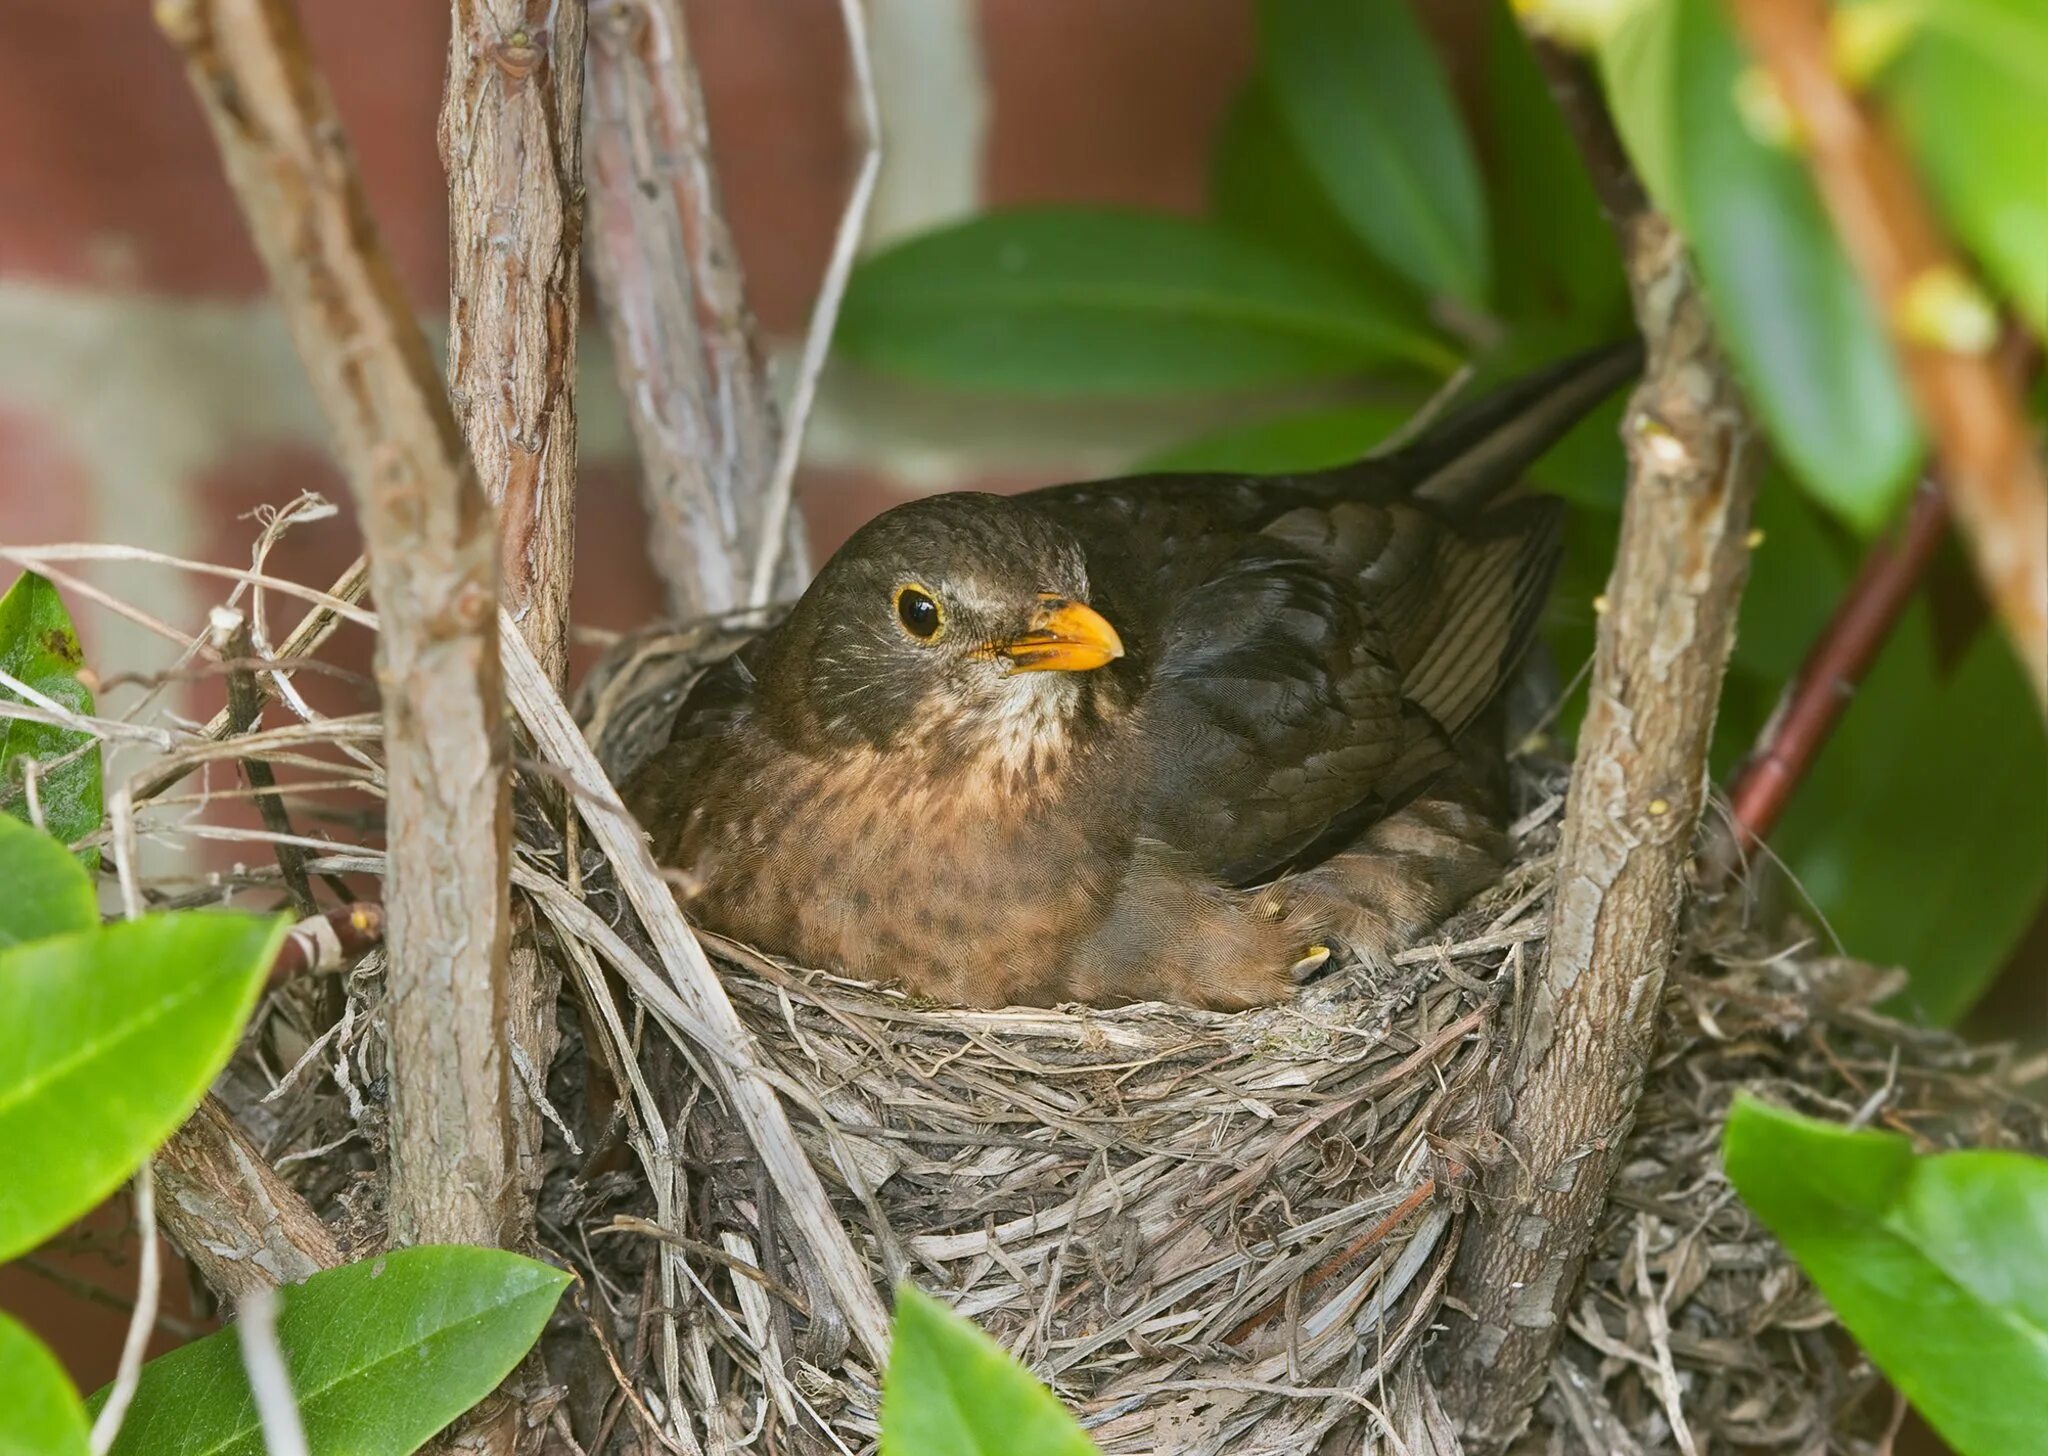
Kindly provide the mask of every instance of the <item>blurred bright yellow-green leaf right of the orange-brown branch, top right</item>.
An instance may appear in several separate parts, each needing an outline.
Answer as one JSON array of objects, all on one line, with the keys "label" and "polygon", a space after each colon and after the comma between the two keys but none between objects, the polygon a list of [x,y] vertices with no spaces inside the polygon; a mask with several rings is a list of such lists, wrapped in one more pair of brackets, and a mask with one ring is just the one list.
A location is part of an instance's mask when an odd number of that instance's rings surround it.
[{"label": "blurred bright yellow-green leaf right of the orange-brown branch, top right", "polygon": [[1919,29],[1878,96],[1948,221],[2034,332],[2048,334],[2048,6],[1939,0],[1913,10]]}]

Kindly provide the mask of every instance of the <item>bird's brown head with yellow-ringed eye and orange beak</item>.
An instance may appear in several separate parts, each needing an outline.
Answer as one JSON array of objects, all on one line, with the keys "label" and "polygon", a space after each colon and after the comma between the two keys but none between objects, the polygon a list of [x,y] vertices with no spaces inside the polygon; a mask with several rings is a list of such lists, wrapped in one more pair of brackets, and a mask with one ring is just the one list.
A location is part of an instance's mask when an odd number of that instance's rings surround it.
[{"label": "bird's brown head with yellow-ringed eye and orange beak", "polygon": [[834,735],[973,752],[1063,731],[1122,655],[1067,530],[1001,496],[934,496],[825,563],[780,629],[774,688]]}]

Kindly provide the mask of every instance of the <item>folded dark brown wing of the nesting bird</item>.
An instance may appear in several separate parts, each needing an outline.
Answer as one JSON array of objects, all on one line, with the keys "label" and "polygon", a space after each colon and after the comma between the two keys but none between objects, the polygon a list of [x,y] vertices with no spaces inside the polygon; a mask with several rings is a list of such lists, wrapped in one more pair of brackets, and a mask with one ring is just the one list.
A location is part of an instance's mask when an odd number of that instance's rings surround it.
[{"label": "folded dark brown wing of the nesting bird", "polygon": [[1407,803],[1528,647],[1559,516],[1354,500],[1243,541],[1159,631],[1145,833],[1249,885]]}]

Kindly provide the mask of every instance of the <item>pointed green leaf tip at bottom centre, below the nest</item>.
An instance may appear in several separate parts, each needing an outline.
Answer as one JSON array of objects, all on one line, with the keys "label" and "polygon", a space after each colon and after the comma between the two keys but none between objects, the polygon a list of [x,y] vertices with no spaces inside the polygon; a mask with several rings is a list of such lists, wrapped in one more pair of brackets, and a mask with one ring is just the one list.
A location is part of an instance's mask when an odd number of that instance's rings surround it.
[{"label": "pointed green leaf tip at bottom centre, below the nest", "polygon": [[1092,1456],[1053,1393],[971,1323],[903,1284],[881,1456]]}]

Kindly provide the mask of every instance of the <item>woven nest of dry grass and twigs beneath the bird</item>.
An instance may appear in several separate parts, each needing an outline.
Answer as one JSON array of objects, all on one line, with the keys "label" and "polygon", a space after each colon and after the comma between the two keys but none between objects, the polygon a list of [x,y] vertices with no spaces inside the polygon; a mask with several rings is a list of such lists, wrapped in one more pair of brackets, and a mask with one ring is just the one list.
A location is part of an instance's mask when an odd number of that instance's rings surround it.
[{"label": "woven nest of dry grass and twigs beneath the bird", "polygon": [[[270,524],[258,567],[291,522]],[[14,555],[49,573],[66,561]],[[242,573],[236,594],[250,588]],[[322,641],[270,647],[258,631],[252,651]],[[614,776],[735,641],[713,625],[608,653],[580,717]],[[279,840],[246,827],[225,782],[164,795],[172,760],[281,766],[309,872],[381,872],[375,719],[289,706],[281,727],[227,741],[109,729],[141,756],[121,782],[162,795],[115,795],[104,846],[125,883],[156,903],[276,901],[266,864],[152,876],[137,858],[139,838],[246,838],[264,854]],[[750,1032],[729,1044],[647,979],[664,962],[621,893],[625,866],[563,844],[537,809],[563,778],[582,784],[575,766],[532,752],[516,889],[575,991],[545,1087],[528,1079],[557,1151],[541,1239],[584,1274],[543,1354],[586,1450],[872,1448],[879,1370],[764,1171],[768,1149],[717,1091],[735,1057],[786,1108],[854,1278],[883,1298],[899,1280],[942,1294],[1110,1456],[1458,1450],[1427,1341],[1477,1173],[1503,1155],[1495,1083],[1542,960],[1561,768],[1524,766],[1520,856],[1499,887],[1391,971],[1337,967],[1288,1005],[961,1012],[709,942]],[[219,823],[223,805],[242,829]],[[2040,1149],[2048,1124],[2001,1051],[1876,1012],[1894,979],[1765,934],[1739,901],[1698,905],[1688,944],[1528,1448],[1876,1450],[1888,1393],[1718,1173],[1731,1098],[1757,1089],[1931,1149]],[[266,999],[221,1094],[367,1253],[381,1247],[383,979],[377,952],[338,969]]]}]

